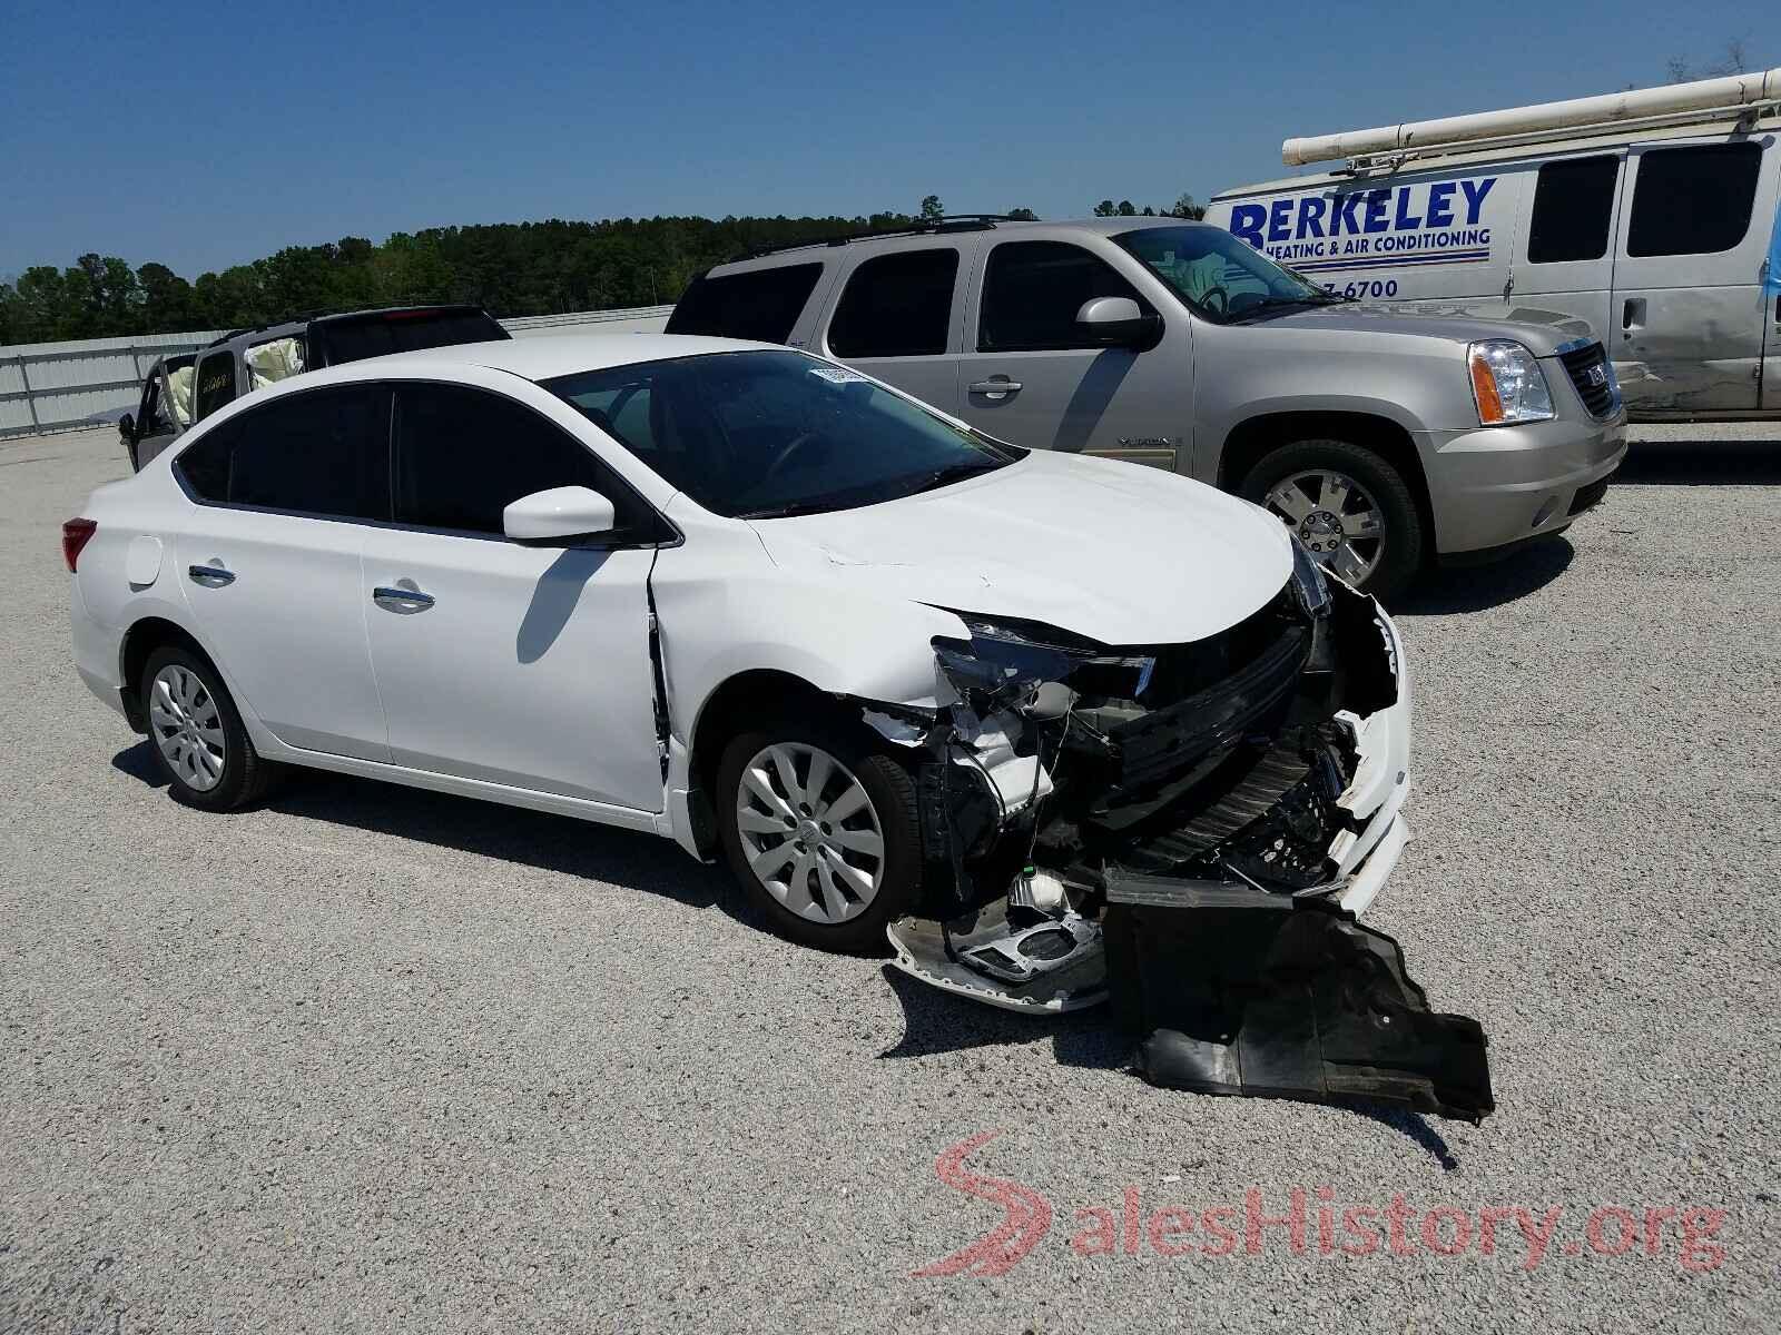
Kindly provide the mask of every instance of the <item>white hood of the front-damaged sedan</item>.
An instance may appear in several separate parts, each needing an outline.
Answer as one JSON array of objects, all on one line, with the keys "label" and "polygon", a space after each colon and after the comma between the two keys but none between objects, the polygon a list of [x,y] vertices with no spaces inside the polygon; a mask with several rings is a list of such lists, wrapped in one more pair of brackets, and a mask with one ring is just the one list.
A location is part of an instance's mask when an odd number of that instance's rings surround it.
[{"label": "white hood of the front-damaged sedan", "polygon": [[1284,525],[1175,473],[1035,450],[903,500],[753,520],[782,568],[880,598],[1008,616],[1102,644],[1179,644],[1263,607],[1293,568]]}]

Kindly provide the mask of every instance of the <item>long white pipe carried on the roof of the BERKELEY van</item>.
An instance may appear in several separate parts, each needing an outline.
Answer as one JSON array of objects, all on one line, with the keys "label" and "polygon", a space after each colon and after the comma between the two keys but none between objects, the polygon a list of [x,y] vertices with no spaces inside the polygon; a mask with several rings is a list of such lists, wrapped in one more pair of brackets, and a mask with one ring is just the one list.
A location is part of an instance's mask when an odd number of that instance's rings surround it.
[{"label": "long white pipe carried on the roof of the BERKELEY van", "polygon": [[1692,84],[1628,89],[1596,98],[1544,101],[1434,121],[1405,121],[1371,130],[1288,139],[1281,160],[1289,167],[1346,158],[1346,171],[1396,166],[1411,158],[1443,157],[1482,148],[1533,144],[1589,132],[1649,130],[1738,116],[1754,125],[1765,110],[1781,107],[1781,68],[1753,75],[1701,78]]}]

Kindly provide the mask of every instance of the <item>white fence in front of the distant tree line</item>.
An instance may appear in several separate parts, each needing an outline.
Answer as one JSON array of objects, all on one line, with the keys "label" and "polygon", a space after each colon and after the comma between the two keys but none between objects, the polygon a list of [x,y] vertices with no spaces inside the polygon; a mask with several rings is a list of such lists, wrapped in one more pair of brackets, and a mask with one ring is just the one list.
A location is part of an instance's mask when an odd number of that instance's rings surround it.
[{"label": "white fence in front of the distant tree line", "polygon": [[[525,315],[502,320],[515,338],[579,333],[659,333],[673,306],[588,310],[570,315]],[[192,352],[223,329],[134,338],[84,338],[73,344],[0,347],[0,438],[116,422],[135,411],[142,376],[155,358]]]}]

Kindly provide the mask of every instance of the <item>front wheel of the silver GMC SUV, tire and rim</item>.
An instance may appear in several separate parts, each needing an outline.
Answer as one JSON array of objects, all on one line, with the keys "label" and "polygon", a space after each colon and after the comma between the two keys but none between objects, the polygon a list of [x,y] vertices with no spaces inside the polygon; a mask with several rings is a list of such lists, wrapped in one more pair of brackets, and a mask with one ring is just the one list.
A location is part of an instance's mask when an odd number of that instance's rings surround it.
[{"label": "front wheel of the silver GMC SUV, tire and rim", "polygon": [[1427,532],[1403,475],[1346,440],[1297,440],[1248,470],[1238,495],[1273,513],[1348,584],[1378,598],[1423,566]]}]

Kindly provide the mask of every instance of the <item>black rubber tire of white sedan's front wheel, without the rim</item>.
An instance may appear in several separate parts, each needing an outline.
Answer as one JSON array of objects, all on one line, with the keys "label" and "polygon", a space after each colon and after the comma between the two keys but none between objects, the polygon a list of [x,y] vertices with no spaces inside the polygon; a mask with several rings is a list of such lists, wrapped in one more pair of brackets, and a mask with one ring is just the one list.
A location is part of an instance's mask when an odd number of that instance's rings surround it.
[{"label": "black rubber tire of white sedan's front wheel, without the rim", "polygon": [[[844,954],[874,954],[887,949],[885,926],[910,913],[921,901],[923,856],[915,783],[892,756],[873,746],[864,728],[851,730],[819,719],[782,719],[732,737],[718,762],[718,835],[730,872],[743,894],[780,936],[800,945]],[[844,765],[866,789],[883,838],[882,876],[876,894],[855,917],[817,922],[791,911],[750,869],[737,826],[737,796],[743,769],[769,746],[817,748]],[[807,778],[805,771],[801,776]],[[791,874],[787,872],[787,881]],[[812,895],[814,897],[814,895]]]}]

